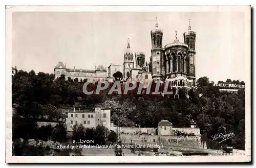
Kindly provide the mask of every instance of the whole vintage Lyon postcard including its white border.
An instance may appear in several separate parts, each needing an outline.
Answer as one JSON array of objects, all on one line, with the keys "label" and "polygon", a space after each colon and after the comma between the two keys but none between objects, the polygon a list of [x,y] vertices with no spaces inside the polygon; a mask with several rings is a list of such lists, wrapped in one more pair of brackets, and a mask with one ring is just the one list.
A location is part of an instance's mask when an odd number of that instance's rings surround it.
[{"label": "whole vintage Lyon postcard including its white border", "polygon": [[250,162],[250,6],[6,6],[6,162]]}]

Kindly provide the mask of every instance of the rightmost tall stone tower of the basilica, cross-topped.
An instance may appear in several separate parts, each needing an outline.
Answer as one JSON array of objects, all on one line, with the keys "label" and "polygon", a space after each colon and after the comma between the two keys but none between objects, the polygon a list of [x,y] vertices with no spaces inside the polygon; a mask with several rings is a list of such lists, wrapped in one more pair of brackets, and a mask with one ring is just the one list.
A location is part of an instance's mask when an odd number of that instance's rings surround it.
[{"label": "rightmost tall stone tower of the basilica, cross-topped", "polygon": [[186,58],[186,73],[187,78],[193,80],[193,85],[196,85],[196,32],[191,31],[190,19],[188,31],[183,33],[184,43],[188,45],[188,53]]}]

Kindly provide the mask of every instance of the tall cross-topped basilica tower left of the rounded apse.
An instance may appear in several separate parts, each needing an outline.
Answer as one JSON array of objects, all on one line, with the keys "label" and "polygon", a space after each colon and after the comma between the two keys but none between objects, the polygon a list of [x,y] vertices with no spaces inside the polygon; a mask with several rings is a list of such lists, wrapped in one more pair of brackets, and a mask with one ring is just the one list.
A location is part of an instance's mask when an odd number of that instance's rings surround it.
[{"label": "tall cross-topped basilica tower left of the rounded apse", "polygon": [[[156,18],[157,21],[157,18]],[[161,76],[165,74],[164,72],[164,59],[163,59],[163,49],[162,49],[162,39],[163,31],[158,28],[158,23],[156,22],[155,29],[151,30],[151,73],[153,80],[161,80]]]}]

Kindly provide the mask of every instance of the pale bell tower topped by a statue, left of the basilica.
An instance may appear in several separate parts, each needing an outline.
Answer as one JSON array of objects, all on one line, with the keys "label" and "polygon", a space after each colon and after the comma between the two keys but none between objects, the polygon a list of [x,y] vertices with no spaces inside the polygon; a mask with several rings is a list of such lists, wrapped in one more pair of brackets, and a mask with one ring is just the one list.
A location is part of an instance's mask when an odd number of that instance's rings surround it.
[{"label": "pale bell tower topped by a statue, left of the basilica", "polygon": [[123,55],[123,78],[130,77],[130,71],[134,68],[133,53],[131,51],[130,40],[127,40],[127,49]]}]

